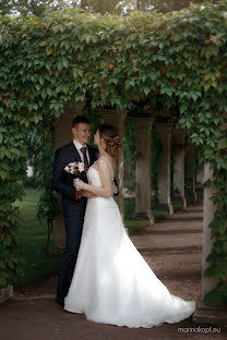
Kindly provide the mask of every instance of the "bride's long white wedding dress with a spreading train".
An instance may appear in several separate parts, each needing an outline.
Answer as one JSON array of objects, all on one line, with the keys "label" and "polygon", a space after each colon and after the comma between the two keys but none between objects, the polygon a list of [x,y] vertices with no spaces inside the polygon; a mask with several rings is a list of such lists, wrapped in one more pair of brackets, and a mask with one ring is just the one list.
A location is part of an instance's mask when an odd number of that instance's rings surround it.
[{"label": "bride's long white wedding dress with a spreading train", "polygon": [[[91,184],[101,186],[95,165],[87,178]],[[195,303],[169,293],[129,239],[115,199],[97,197],[87,201],[64,309],[85,313],[95,323],[150,328],[188,318]]]}]

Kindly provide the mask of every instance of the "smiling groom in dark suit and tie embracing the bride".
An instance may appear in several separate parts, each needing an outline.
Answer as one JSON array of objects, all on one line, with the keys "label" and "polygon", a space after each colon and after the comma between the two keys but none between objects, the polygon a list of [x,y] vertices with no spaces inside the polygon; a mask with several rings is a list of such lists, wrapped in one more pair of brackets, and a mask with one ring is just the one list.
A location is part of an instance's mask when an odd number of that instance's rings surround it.
[{"label": "smiling groom in dark suit and tie embracing the bride", "polygon": [[64,305],[64,298],[68,294],[77,258],[87,197],[94,197],[84,191],[82,198],[75,199],[73,178],[64,171],[64,167],[70,162],[82,161],[88,168],[98,158],[97,149],[87,145],[92,134],[87,118],[77,116],[73,119],[72,134],[73,141],[56,150],[52,167],[52,187],[61,194],[61,208],[67,234],[56,295],[56,302],[61,306]]}]

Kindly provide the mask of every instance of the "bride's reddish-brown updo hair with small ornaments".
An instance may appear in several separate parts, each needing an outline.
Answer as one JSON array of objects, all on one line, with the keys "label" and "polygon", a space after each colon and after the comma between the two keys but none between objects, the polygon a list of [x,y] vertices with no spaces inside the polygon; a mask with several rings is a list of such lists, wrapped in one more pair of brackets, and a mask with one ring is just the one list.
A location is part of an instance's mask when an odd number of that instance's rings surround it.
[{"label": "bride's reddish-brown updo hair with small ornaments", "polygon": [[119,148],[121,147],[116,129],[110,124],[101,124],[98,131],[100,138],[106,142],[107,154],[115,158],[118,155]]}]

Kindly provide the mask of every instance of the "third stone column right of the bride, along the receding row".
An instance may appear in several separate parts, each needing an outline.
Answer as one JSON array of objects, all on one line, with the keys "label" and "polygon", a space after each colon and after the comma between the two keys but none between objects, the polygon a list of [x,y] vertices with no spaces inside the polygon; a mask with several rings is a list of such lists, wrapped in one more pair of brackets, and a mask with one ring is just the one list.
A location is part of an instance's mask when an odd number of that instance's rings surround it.
[{"label": "third stone column right of the bride, along the receding row", "polygon": [[174,173],[174,189],[177,191],[175,197],[183,203],[183,208],[187,207],[184,196],[184,131],[175,130],[175,173]]}]

